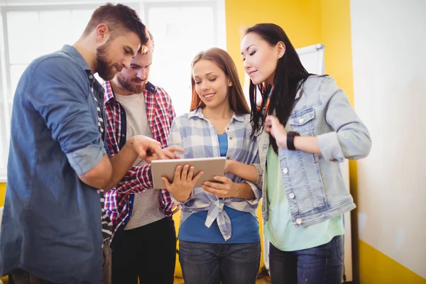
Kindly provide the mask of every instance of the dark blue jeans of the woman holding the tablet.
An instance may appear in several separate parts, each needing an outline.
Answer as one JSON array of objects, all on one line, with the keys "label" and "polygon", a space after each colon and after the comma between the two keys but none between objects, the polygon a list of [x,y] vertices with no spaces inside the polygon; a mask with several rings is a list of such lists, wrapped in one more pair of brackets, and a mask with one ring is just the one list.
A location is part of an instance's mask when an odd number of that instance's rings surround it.
[{"label": "dark blue jeans of the woman holding the tablet", "polygon": [[261,243],[179,241],[179,261],[185,284],[255,284]]}]

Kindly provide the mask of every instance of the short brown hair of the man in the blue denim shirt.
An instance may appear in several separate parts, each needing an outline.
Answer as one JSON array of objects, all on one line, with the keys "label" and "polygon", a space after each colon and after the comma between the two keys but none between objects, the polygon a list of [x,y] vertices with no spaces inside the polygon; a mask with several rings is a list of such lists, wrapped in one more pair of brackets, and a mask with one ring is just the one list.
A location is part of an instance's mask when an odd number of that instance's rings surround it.
[{"label": "short brown hair of the man in the blue denim shirt", "polygon": [[145,45],[148,41],[146,27],[139,18],[138,13],[129,6],[123,4],[111,4],[99,6],[94,10],[92,17],[84,29],[83,36],[92,33],[93,29],[104,23],[111,31],[111,36],[116,36],[119,33],[133,32],[139,36],[141,45]]}]

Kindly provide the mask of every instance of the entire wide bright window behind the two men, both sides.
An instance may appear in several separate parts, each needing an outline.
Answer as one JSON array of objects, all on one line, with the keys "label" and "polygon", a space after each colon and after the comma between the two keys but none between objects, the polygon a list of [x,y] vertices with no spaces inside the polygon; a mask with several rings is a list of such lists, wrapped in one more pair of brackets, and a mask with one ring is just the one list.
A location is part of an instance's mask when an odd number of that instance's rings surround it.
[{"label": "entire wide bright window behind the two men, both sides", "polygon": [[[38,56],[75,43],[94,9],[105,3],[66,2],[0,0],[0,182],[6,179],[13,94],[23,70]],[[136,9],[153,33],[151,82],[165,88],[178,114],[188,111],[192,58],[206,48],[225,48],[224,0],[124,4]]]}]

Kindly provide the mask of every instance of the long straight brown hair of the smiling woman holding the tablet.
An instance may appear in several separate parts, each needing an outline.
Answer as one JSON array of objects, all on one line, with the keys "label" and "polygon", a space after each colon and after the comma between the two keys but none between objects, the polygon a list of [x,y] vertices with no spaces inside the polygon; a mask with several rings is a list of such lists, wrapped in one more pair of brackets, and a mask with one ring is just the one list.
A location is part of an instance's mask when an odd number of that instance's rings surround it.
[{"label": "long straight brown hair of the smiling woman holding the tablet", "polygon": [[[191,67],[199,62],[200,60],[210,60],[216,64],[225,75],[229,78],[232,83],[232,86],[228,90],[228,99],[229,107],[236,112],[237,114],[250,114],[249,104],[247,104],[246,98],[244,97],[243,89],[239,82],[238,72],[236,71],[236,66],[234,60],[231,56],[226,53],[225,50],[220,48],[209,48],[204,50],[197,55],[195,55],[194,60],[192,60]],[[202,102],[197,92],[195,91],[195,81],[191,76],[191,85],[192,85],[192,100],[191,100],[191,111],[194,109],[206,107]]]}]

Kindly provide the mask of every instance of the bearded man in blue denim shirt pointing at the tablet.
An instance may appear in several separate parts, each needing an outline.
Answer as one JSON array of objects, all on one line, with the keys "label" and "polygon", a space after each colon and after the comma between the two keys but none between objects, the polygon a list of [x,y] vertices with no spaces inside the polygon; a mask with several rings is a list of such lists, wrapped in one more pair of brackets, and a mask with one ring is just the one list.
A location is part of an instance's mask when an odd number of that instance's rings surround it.
[{"label": "bearded man in blue denim shirt pointing at the tablet", "polygon": [[[146,43],[129,7],[94,11],[74,46],[35,59],[13,98],[0,275],[15,283],[102,283],[101,198],[137,156],[164,158],[158,142],[127,141],[109,160],[102,141],[103,89]],[[99,133],[100,131],[100,133]],[[31,282],[33,283],[33,282]]]}]

